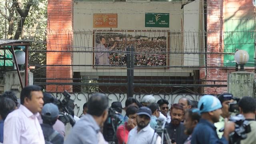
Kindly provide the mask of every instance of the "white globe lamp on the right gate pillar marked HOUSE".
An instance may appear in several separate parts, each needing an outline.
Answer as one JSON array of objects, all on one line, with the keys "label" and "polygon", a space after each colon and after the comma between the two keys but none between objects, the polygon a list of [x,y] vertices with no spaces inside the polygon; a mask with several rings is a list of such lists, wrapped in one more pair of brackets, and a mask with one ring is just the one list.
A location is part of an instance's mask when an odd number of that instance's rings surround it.
[{"label": "white globe lamp on the right gate pillar marked HOUSE", "polygon": [[244,65],[248,62],[249,60],[249,54],[245,50],[238,50],[236,51],[235,55],[235,62],[240,65],[240,70],[244,70]]}]

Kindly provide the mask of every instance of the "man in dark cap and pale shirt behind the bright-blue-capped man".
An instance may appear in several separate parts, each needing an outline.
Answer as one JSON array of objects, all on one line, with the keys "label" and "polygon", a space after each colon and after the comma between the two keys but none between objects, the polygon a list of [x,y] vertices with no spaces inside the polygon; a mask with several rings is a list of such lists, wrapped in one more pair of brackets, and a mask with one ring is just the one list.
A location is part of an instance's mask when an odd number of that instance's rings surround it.
[{"label": "man in dark cap and pale shirt behind the bright-blue-capped man", "polygon": [[214,126],[216,127],[216,131],[218,134],[218,137],[221,138],[223,135],[223,132],[220,132],[219,130],[221,128],[224,128],[225,124],[225,118],[230,117],[230,113],[228,112],[228,104],[230,102],[234,102],[233,95],[230,93],[223,93],[218,96],[218,99],[220,100],[220,103],[222,104],[222,114],[220,114],[220,120],[219,122],[215,122]]}]

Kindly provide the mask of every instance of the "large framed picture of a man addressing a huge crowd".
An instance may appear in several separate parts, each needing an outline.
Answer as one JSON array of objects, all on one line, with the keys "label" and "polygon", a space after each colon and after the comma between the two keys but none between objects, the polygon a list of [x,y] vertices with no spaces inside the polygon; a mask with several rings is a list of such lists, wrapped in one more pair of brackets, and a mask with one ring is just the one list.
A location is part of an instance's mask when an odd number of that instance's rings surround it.
[{"label": "large framed picture of a man addressing a huge crowd", "polygon": [[94,32],[94,65],[126,66],[128,47],[134,47],[134,66],[168,65],[168,32]]}]

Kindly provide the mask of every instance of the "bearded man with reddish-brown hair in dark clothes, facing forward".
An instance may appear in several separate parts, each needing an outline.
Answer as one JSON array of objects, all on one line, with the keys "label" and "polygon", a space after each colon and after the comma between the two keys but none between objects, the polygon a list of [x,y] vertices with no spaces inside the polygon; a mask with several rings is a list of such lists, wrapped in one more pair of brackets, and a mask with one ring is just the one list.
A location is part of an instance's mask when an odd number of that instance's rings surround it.
[{"label": "bearded man with reddish-brown hair in dark clothes, facing forward", "polygon": [[176,144],[183,144],[188,136],[184,134],[185,126],[181,122],[184,116],[183,106],[181,104],[173,104],[170,110],[172,121],[166,126],[171,139],[174,139]]}]

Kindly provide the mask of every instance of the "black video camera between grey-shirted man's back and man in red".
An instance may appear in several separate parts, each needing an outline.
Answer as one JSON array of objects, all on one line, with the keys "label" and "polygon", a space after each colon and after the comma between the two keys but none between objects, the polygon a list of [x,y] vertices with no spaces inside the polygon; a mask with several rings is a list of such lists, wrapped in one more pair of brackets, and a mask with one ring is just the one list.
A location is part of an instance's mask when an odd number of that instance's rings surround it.
[{"label": "black video camera between grey-shirted man's back and man in red", "polygon": [[118,116],[118,112],[113,108],[108,109],[108,118],[106,119],[103,126],[103,136],[109,144],[118,143],[116,139],[116,129],[119,124],[121,124],[122,120],[120,120]]}]

